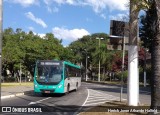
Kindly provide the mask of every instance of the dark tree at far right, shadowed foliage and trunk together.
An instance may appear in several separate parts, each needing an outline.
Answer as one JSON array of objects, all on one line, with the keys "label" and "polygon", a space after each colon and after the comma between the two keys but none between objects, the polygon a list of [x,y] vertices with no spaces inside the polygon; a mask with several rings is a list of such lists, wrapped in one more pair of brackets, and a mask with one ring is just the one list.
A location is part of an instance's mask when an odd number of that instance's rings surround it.
[{"label": "dark tree at far right, shadowed foliage and trunk together", "polygon": [[148,2],[150,8],[146,11],[146,16],[141,18],[140,36],[143,45],[151,52],[151,108],[157,109],[160,105],[160,1],[149,0]]}]

